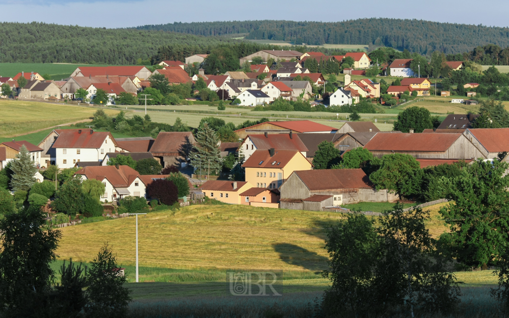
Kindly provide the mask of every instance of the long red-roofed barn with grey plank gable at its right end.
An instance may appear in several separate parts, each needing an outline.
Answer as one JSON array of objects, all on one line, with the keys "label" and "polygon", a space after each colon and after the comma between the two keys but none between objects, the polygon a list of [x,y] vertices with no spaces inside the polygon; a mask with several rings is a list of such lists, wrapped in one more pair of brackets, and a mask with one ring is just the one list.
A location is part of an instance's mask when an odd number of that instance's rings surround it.
[{"label": "long red-roofed barn with grey plank gable at its right end", "polygon": [[398,153],[415,158],[471,159],[485,157],[462,133],[377,133],[364,146],[373,156]]}]

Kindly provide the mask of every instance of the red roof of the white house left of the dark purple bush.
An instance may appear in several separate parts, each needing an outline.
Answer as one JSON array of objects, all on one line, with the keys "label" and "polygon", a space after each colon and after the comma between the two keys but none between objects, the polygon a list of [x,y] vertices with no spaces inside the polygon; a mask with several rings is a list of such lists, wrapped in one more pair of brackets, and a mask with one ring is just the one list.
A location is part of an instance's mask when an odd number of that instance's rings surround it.
[{"label": "red roof of the white house left of the dark purple bush", "polygon": [[[118,168],[116,166],[87,166],[76,171],[75,175],[99,181],[106,179],[115,188],[127,188],[136,178],[139,178],[138,171],[130,166],[119,166]],[[143,182],[141,178],[139,179]]]}]

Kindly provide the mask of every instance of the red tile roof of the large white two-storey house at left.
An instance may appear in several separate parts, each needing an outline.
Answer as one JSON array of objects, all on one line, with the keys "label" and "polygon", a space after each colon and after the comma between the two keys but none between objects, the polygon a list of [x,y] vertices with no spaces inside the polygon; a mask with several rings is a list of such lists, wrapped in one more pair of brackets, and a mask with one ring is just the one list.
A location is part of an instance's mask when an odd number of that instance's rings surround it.
[{"label": "red tile roof of the large white two-storey house at left", "polygon": [[90,129],[82,129],[79,131],[62,131],[55,143],[53,148],[95,148],[99,149],[106,137],[109,136],[114,145],[116,145],[115,139],[109,132],[94,131],[90,133]]}]

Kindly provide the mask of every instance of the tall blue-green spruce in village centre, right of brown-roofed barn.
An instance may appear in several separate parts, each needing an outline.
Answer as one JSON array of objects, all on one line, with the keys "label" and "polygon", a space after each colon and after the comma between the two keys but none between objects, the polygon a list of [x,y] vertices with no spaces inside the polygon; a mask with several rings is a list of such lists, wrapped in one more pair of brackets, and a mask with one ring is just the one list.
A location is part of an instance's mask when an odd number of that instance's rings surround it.
[{"label": "tall blue-green spruce in village centre, right of brown-roofed barn", "polygon": [[[191,165],[196,168],[196,173],[208,174],[210,171],[221,169],[221,156],[219,153],[219,138],[216,132],[205,123],[196,133],[196,144],[189,154]],[[201,172],[200,172],[201,171]]]}]

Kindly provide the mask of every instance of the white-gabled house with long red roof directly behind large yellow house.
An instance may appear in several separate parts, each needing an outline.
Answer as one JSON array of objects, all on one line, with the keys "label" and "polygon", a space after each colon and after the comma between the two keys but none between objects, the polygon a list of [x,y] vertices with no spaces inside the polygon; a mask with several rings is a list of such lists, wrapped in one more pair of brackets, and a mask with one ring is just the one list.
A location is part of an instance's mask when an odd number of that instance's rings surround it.
[{"label": "white-gabled house with long red roof directly behind large yellow house", "polygon": [[247,135],[239,147],[239,152],[244,155],[247,160],[257,150],[296,150],[304,157],[307,148],[300,140],[297,134],[290,132],[289,134],[253,134]]}]

